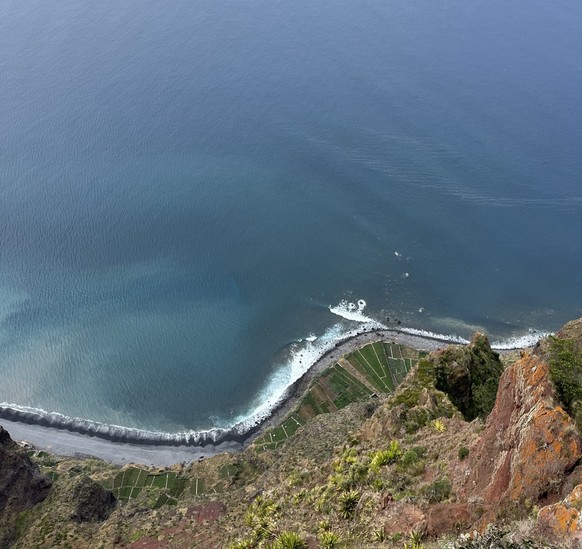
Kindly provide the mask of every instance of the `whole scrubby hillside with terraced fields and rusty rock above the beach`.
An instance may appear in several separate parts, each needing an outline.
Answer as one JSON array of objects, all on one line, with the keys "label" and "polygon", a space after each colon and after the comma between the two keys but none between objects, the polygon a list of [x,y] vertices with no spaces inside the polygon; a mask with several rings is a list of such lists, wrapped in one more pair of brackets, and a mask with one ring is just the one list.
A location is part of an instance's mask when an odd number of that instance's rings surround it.
[{"label": "whole scrubby hillside with terraced fields and rusty rock above the beach", "polygon": [[578,546],[582,319],[505,363],[483,334],[428,356],[374,345],[238,454],[33,457],[54,484],[4,510],[13,546]]}]

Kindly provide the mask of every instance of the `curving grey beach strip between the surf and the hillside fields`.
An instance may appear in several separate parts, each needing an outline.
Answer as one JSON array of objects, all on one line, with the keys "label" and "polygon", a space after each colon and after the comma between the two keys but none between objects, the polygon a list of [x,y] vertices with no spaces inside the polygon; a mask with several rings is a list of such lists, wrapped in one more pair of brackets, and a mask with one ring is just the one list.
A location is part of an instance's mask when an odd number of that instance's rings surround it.
[{"label": "curving grey beach strip between the surf and the hillside fields", "polygon": [[140,442],[139,439],[124,439],[123,432],[104,433],[98,428],[92,431],[86,427],[93,423],[90,421],[85,421],[79,429],[72,430],[65,426],[52,425],[48,418],[39,414],[8,408],[0,408],[0,425],[10,433],[13,440],[26,441],[36,449],[46,450],[58,456],[96,457],[116,465],[141,463],[150,466],[169,466],[185,461],[196,461],[248,447],[264,430],[280,423],[295,409],[317,375],[332,366],[341,356],[366,343],[378,340],[399,343],[421,351],[434,351],[453,343],[438,337],[415,335],[389,328],[369,329],[352,335],[339,341],[319,357],[299,379],[286,389],[269,415],[244,432],[237,431],[237,426],[234,426],[231,430],[216,430],[198,436],[184,433],[181,443],[177,438],[171,439],[167,433],[158,433],[159,442],[157,440]]}]

